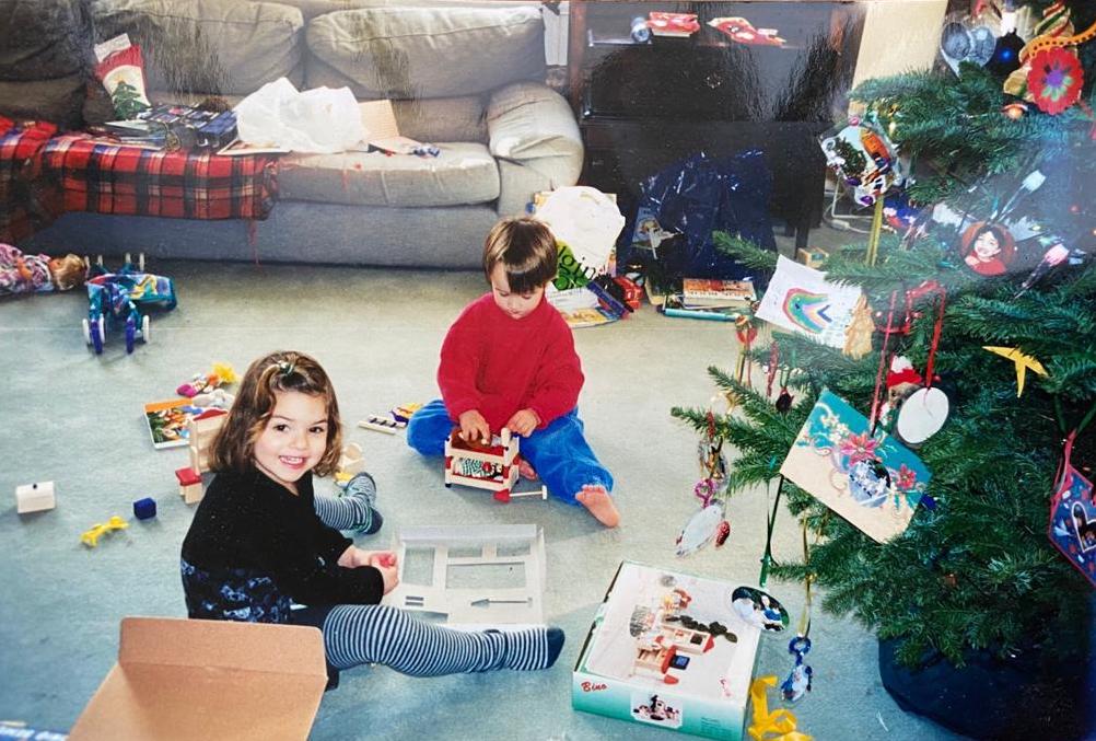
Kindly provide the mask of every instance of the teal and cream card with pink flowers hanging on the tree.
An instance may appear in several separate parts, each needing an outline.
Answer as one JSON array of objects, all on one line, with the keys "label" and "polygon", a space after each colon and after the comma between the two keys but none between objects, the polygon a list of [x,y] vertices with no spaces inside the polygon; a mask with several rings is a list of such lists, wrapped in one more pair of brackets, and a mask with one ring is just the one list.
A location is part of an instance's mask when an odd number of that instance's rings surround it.
[{"label": "teal and cream card with pink flowers hanging on the tree", "polygon": [[905,531],[932,477],[917,456],[823,390],[780,474],[874,540]]}]

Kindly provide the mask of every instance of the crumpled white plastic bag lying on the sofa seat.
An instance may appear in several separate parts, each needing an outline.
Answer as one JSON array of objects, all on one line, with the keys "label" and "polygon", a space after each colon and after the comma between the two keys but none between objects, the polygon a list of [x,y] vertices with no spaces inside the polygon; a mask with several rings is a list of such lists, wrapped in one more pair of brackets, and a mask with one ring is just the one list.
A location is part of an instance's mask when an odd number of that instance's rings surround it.
[{"label": "crumpled white plastic bag lying on the sofa seat", "polygon": [[344,151],[365,138],[350,88],[298,92],[284,77],[240,101],[236,123],[241,141],[299,152]]}]

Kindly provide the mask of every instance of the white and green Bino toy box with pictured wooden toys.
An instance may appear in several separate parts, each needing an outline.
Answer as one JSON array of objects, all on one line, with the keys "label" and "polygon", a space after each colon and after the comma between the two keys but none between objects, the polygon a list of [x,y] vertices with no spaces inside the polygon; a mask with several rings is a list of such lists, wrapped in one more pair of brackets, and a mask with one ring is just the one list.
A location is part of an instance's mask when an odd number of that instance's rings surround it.
[{"label": "white and green Bino toy box with pictured wooden toys", "polygon": [[579,654],[572,707],[741,740],[760,631],[734,612],[732,592],[624,561]]}]

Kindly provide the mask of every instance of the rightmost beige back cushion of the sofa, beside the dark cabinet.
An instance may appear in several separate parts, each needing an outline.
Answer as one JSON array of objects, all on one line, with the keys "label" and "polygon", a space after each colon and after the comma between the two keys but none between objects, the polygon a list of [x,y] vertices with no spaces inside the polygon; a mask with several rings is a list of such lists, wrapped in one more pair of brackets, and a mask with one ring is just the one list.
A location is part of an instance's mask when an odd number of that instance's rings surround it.
[{"label": "rightmost beige back cushion of the sofa, beside the dark cabinet", "polygon": [[358,99],[469,95],[544,80],[544,21],[516,8],[372,8],[309,22],[308,87]]}]

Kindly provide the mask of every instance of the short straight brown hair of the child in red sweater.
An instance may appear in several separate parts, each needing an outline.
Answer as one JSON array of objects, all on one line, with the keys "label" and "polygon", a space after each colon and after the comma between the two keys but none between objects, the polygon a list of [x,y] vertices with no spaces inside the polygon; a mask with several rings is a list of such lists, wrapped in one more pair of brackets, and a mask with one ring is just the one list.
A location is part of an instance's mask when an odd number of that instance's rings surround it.
[{"label": "short straight brown hair of the child in red sweater", "polygon": [[532,293],[556,277],[556,237],[544,221],[504,218],[483,242],[483,274],[490,283],[495,265],[502,265],[511,293]]}]

